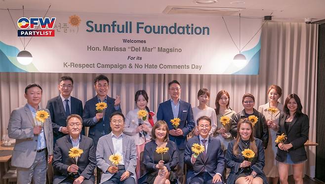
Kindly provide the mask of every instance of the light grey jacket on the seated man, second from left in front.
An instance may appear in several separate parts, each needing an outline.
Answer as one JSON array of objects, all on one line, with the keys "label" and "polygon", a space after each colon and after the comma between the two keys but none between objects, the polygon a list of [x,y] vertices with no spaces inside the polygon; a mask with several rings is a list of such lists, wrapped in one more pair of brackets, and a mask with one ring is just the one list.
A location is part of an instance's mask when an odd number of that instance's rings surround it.
[{"label": "light grey jacket on the seated man, second from left in front", "polygon": [[[136,181],[135,167],[136,167],[136,148],[133,139],[125,134],[122,134],[122,150],[125,171],[130,172],[130,177]],[[97,167],[103,171],[100,183],[108,181],[114,174],[107,171],[110,166],[113,166],[109,161],[109,157],[115,153],[112,133],[105,135],[98,140],[96,149]]]}]

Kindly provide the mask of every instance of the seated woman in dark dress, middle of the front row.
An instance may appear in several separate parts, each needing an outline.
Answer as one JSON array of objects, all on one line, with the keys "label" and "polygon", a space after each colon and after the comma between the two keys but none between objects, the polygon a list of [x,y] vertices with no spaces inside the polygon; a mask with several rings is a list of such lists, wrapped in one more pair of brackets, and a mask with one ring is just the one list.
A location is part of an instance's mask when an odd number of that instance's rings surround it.
[{"label": "seated woman in dark dress, middle of the front row", "polygon": [[[178,153],[175,143],[168,139],[167,123],[157,121],[151,134],[152,141],[145,145],[143,153],[147,173],[138,180],[138,184],[175,184],[174,168],[178,163]],[[158,154],[157,147],[168,147],[168,151]]]}]

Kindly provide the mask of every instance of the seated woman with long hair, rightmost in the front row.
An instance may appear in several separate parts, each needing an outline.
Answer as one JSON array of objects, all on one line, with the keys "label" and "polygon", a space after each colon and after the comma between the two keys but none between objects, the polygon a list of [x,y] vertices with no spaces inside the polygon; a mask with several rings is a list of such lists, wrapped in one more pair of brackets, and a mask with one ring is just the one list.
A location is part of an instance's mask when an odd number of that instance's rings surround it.
[{"label": "seated woman with long hair, rightmost in the front row", "polygon": [[[248,118],[239,121],[237,130],[240,136],[229,143],[225,155],[226,164],[231,169],[227,184],[267,184],[263,173],[263,142],[254,138],[253,125]],[[251,161],[247,161],[242,154],[248,148],[255,154]]]}]

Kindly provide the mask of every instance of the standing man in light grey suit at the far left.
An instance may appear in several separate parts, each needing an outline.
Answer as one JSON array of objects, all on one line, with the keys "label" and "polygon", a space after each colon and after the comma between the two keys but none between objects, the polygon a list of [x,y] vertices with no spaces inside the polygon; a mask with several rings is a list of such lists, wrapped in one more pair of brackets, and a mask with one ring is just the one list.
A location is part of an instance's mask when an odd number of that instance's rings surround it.
[{"label": "standing man in light grey suit at the far left", "polygon": [[36,119],[41,109],[42,88],[38,84],[30,84],[25,88],[27,104],[15,109],[10,114],[8,135],[16,139],[11,165],[17,167],[17,184],[46,183],[47,163],[53,158],[53,132],[51,117],[43,123]]}]

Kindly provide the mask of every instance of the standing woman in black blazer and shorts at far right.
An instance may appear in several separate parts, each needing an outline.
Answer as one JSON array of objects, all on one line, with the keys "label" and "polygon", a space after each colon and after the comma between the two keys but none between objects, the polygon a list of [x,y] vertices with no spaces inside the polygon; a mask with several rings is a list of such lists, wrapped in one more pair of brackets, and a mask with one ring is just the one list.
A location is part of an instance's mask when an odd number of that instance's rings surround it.
[{"label": "standing woman in black blazer and shorts at far right", "polygon": [[308,140],[309,119],[302,113],[300,98],[290,94],[285,99],[284,114],[280,115],[277,135],[286,135],[284,143],[278,144],[276,160],[279,161],[281,184],[287,184],[289,166],[292,165],[295,184],[303,184],[304,162],[307,154],[304,143]]}]

